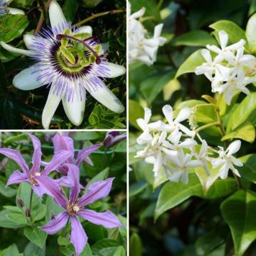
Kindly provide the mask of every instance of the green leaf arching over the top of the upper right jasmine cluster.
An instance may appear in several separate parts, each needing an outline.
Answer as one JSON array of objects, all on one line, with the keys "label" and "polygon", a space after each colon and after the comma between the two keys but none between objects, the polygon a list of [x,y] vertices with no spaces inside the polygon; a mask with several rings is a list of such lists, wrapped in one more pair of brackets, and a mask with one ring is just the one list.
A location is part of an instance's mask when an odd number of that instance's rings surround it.
[{"label": "green leaf arching over the top of the upper right jasmine cluster", "polygon": [[[228,33],[228,39],[230,43],[238,43],[241,39],[244,39],[247,41],[247,38],[245,36],[245,31],[240,28],[237,24],[235,24],[233,21],[217,21],[209,26],[210,28],[213,28],[215,31],[225,31]],[[245,48],[248,49],[247,43],[245,45]]]}]

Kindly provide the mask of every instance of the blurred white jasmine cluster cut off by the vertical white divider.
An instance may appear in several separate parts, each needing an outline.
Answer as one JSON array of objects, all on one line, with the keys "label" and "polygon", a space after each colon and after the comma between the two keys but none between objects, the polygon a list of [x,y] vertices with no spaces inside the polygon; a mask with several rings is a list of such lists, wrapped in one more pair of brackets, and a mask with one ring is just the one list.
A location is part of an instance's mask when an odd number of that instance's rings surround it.
[{"label": "blurred white jasmine cluster cut off by the vertical white divider", "polygon": [[156,61],[156,53],[159,46],[164,46],[166,38],[161,36],[163,24],[154,28],[153,38],[148,38],[148,33],[141,22],[137,21],[144,15],[145,9],[131,14],[131,6],[128,4],[128,35],[129,35],[129,63],[139,60],[146,65],[152,65]]}]

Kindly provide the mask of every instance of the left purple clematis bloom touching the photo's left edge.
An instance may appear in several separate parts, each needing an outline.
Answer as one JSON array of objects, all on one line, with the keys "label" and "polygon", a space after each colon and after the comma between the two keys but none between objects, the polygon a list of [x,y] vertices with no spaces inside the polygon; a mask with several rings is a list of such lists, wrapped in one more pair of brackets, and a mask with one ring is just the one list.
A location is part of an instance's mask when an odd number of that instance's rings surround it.
[{"label": "left purple clematis bloom touching the photo's left edge", "polygon": [[19,151],[6,148],[0,149],[0,154],[4,154],[4,156],[7,156],[10,159],[16,161],[16,164],[18,164],[18,166],[21,167],[22,171],[14,171],[9,177],[6,186],[9,186],[14,183],[28,182],[31,184],[33,191],[39,197],[41,197],[45,192],[43,188],[38,184],[38,177],[48,176],[48,174],[50,174],[51,171],[55,171],[56,169],[58,169],[59,166],[61,166],[70,156],[72,156],[72,152],[67,150],[58,151],[53,155],[53,159],[48,163],[48,165],[43,169],[43,171],[41,171],[41,143],[39,139],[33,136],[32,134],[28,134],[28,136],[31,138],[34,148],[32,157],[33,167],[31,169],[28,168],[26,161],[23,159]]}]

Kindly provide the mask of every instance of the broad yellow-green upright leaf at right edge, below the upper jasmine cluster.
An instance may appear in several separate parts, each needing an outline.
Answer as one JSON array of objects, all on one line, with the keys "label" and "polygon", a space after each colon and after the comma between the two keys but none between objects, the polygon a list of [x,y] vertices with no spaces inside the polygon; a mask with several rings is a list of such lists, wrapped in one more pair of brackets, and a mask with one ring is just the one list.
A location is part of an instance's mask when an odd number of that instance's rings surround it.
[{"label": "broad yellow-green upright leaf at right edge, below the upper jasmine cluster", "polygon": [[235,108],[228,120],[227,132],[233,131],[244,122],[251,122],[256,117],[256,92],[245,97]]}]

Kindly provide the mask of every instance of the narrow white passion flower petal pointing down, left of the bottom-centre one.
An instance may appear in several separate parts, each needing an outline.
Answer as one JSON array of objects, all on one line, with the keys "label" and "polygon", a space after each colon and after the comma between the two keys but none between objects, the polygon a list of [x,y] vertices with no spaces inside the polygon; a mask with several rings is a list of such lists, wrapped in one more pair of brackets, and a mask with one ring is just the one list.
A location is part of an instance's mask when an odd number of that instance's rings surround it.
[{"label": "narrow white passion flower petal pointing down, left of the bottom-centre one", "polygon": [[54,86],[51,85],[46,105],[43,108],[42,123],[44,129],[49,129],[50,120],[53,118],[53,114],[57,110],[57,107],[60,104],[61,100],[60,95],[57,96],[53,94],[53,90]]}]

